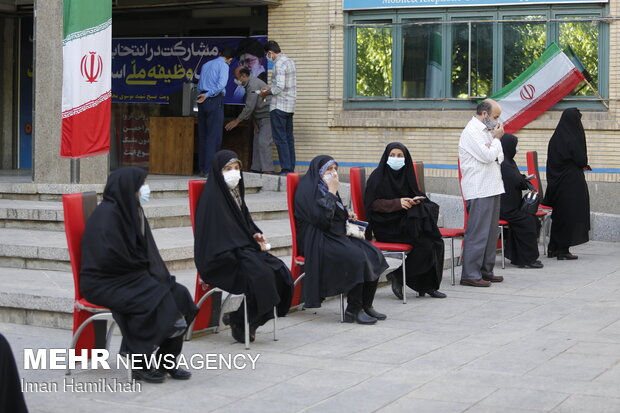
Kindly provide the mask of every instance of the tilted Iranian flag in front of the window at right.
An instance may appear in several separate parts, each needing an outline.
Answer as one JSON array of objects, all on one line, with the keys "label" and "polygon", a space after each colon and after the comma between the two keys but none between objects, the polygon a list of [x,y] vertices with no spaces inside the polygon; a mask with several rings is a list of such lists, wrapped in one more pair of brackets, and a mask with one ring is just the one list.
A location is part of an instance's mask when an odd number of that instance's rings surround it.
[{"label": "tilted Iranian flag in front of the window at right", "polygon": [[525,72],[489,97],[502,106],[500,121],[506,133],[514,133],[555,105],[583,79],[571,59],[552,43]]}]

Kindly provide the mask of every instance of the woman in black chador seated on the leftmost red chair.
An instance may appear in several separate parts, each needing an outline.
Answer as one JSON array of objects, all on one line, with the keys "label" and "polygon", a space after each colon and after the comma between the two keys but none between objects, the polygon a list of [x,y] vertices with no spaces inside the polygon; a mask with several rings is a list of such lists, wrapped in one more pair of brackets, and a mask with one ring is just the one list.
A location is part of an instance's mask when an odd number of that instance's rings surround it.
[{"label": "woman in black chador seated on the leftmost red chair", "polygon": [[[176,358],[183,333],[197,308],[187,288],[177,284],[159,255],[141,203],[150,194],[146,171],[117,169],[108,177],[103,202],[86,223],[82,237],[80,290],[91,303],[112,310],[123,340],[121,352]],[[166,358],[166,359],[169,359]],[[182,369],[133,371],[134,378],[161,383],[189,379]]]}]

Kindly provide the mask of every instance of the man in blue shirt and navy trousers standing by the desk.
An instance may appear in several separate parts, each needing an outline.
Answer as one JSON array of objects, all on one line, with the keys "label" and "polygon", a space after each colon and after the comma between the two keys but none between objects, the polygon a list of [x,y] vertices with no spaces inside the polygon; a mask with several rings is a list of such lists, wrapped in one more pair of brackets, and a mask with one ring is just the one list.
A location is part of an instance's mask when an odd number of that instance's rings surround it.
[{"label": "man in blue shirt and navy trousers standing by the desk", "polygon": [[234,55],[232,47],[226,46],[219,57],[208,61],[200,70],[198,81],[198,169],[206,176],[211,160],[222,145],[224,131],[224,96],[228,84],[229,65]]}]

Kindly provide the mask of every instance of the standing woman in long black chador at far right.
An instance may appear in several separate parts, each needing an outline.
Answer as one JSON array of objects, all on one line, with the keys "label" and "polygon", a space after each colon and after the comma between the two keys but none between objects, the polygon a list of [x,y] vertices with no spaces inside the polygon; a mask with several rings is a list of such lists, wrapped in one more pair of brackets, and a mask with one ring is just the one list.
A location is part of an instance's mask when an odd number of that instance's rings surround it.
[{"label": "standing woman in long black chador at far right", "polygon": [[553,208],[549,258],[575,260],[568,248],[588,242],[590,195],[584,171],[588,165],[586,134],[577,108],[566,109],[551,136],[547,151],[547,193]]}]

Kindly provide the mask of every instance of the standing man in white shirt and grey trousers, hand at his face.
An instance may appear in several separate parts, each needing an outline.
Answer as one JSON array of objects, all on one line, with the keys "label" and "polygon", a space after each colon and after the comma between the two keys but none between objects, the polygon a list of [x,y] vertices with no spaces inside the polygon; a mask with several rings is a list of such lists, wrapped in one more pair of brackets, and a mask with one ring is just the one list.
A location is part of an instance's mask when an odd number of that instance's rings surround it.
[{"label": "standing man in white shirt and grey trousers, hand at his face", "polygon": [[459,141],[461,190],[469,212],[461,285],[489,287],[491,282],[504,280],[493,274],[500,196],[504,193],[500,169],[504,160],[500,142],[504,126],[498,120],[501,114],[497,102],[485,99],[476,108]]}]

